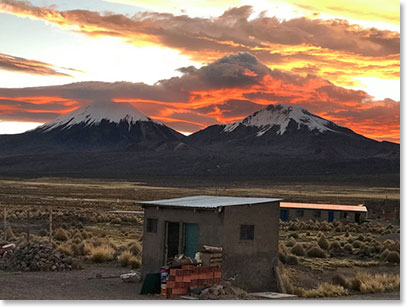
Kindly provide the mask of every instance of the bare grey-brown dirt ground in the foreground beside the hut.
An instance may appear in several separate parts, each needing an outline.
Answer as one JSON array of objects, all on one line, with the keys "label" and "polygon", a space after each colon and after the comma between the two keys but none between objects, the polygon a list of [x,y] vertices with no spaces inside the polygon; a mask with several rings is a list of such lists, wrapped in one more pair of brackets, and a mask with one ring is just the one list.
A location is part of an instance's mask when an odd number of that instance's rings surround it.
[{"label": "bare grey-brown dirt ground in the foreground beside the hut", "polygon": [[[140,295],[139,283],[125,283],[119,276],[128,269],[91,265],[81,271],[1,272],[0,300],[155,300],[158,295]],[[298,299],[298,298],[297,298]],[[399,300],[400,292],[324,298],[329,300]],[[301,298],[303,300],[303,298]]]}]

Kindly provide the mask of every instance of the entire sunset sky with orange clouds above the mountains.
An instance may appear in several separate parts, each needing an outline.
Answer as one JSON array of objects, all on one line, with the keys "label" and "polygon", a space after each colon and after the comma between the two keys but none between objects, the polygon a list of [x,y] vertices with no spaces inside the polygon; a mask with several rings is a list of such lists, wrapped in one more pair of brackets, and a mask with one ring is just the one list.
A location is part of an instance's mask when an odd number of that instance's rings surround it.
[{"label": "entire sunset sky with orange clouds above the mountains", "polygon": [[182,132],[298,104],[400,140],[400,2],[0,0],[0,134],[101,98]]}]

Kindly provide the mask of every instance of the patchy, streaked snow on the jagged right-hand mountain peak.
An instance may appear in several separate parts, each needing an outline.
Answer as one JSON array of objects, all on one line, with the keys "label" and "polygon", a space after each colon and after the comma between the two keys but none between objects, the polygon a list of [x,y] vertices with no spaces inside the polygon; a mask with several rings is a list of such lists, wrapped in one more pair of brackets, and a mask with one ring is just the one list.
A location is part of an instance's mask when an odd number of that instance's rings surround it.
[{"label": "patchy, streaked snow on the jagged right-hand mountain peak", "polygon": [[223,131],[232,132],[239,125],[254,126],[260,129],[257,136],[262,136],[273,127],[279,126],[280,129],[277,131],[277,134],[282,135],[286,132],[291,120],[298,124],[298,129],[301,126],[306,126],[310,131],[333,131],[328,126],[337,126],[333,122],[308,112],[301,106],[277,104],[269,105],[267,108],[257,111],[240,121],[228,124]]}]

